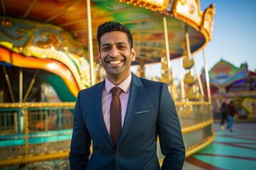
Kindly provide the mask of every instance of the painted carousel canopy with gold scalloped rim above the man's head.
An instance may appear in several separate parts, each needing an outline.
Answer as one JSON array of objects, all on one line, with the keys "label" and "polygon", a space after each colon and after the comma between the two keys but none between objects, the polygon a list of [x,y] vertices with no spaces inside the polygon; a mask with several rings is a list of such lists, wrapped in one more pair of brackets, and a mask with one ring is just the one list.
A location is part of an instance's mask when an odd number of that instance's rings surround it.
[{"label": "painted carousel canopy with gold scalloped rim above the man's head", "polygon": [[[167,21],[171,60],[187,54],[186,30],[189,33],[192,53],[204,47],[211,38],[215,10],[213,4],[205,11],[201,11],[199,0],[170,2],[166,0],[91,0],[88,2],[90,2],[91,17],[87,16],[89,8],[85,0],[2,1],[1,23],[2,26],[6,24],[5,17],[49,23],[70,33],[72,38],[87,51],[89,17],[91,18],[93,55],[97,59],[97,26],[106,21],[119,22],[127,26],[134,36],[134,46],[137,50],[137,61],[134,64],[160,62],[161,57],[166,55],[163,16],[166,16]],[[20,32],[16,31],[16,33]],[[14,46],[26,45],[26,42],[18,45],[13,43]]]}]

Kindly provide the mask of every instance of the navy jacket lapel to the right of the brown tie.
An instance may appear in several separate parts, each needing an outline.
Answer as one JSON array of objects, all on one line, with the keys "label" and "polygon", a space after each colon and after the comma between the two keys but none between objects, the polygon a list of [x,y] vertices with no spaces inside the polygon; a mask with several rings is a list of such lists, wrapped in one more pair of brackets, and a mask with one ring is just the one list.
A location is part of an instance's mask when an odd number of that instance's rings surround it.
[{"label": "navy jacket lapel to the right of the brown tie", "polygon": [[140,81],[139,77],[132,74],[132,83],[129,92],[127,113],[124,118],[124,125],[122,128],[119,142],[121,142],[124,139],[125,135],[127,135],[127,132],[132,125],[132,120],[134,119],[140,97],[142,96],[142,88],[142,81]]}]

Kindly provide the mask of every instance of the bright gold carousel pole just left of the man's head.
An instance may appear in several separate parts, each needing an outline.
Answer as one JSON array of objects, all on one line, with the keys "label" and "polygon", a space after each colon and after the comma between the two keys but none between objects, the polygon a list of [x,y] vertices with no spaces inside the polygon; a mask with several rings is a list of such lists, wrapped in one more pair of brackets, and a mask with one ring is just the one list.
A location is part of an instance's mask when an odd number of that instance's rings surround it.
[{"label": "bright gold carousel pole just left of the man's head", "polygon": [[90,61],[90,81],[91,86],[95,84],[94,65],[93,65],[93,50],[92,50],[92,17],[90,11],[90,0],[86,1],[87,6],[87,29],[88,29],[88,55]]}]

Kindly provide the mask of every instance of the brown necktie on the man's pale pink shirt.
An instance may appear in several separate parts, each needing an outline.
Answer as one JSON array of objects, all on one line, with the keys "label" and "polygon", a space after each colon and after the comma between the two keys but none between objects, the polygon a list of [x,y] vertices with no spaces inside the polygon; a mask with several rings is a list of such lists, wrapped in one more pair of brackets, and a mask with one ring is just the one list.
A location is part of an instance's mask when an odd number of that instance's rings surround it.
[{"label": "brown necktie on the man's pale pink shirt", "polygon": [[111,89],[112,101],[110,105],[110,136],[112,137],[115,145],[117,145],[122,129],[121,103],[119,99],[119,94],[121,91],[122,89],[119,87],[113,87]]}]

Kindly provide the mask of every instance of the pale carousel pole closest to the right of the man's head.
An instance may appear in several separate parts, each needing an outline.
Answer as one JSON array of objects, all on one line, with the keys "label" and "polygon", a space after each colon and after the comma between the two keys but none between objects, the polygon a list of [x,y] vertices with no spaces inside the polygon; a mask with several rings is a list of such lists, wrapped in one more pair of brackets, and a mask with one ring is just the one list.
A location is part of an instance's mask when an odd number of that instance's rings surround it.
[{"label": "pale carousel pole closest to the right of the man's head", "polygon": [[163,16],[164,23],[164,40],[166,45],[166,61],[168,67],[168,86],[171,86],[171,60],[170,60],[170,50],[169,50],[169,40],[168,40],[168,32],[167,32],[167,21],[166,16]]}]

